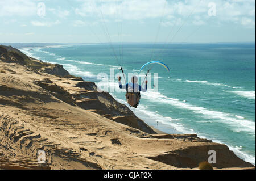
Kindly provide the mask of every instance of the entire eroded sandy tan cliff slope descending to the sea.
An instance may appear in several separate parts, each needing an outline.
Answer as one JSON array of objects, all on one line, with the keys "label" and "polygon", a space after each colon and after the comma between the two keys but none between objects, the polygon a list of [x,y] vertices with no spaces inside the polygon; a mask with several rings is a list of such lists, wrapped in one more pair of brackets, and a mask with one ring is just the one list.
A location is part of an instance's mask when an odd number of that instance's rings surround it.
[{"label": "entire eroded sandy tan cliff slope descending to the sea", "polygon": [[195,134],[156,134],[93,82],[2,57],[0,169],[192,169],[209,150],[216,151],[215,168],[253,167]]}]

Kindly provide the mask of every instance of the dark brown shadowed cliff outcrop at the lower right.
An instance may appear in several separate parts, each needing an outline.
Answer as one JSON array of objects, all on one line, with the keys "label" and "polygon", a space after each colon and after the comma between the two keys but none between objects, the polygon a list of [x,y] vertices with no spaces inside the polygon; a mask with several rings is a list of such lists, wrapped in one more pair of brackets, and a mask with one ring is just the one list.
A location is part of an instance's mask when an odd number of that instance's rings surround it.
[{"label": "dark brown shadowed cliff outcrop at the lower right", "polygon": [[[166,135],[167,136],[167,135]],[[169,134],[168,137],[177,135]],[[180,140],[187,140],[189,135],[179,135]],[[194,135],[191,135],[194,137]],[[158,136],[154,136],[158,137]],[[188,141],[188,140],[187,140]],[[193,138],[193,142],[212,142],[210,140],[202,140],[201,138]],[[185,148],[177,149],[175,151],[167,151],[162,154],[148,155],[147,158],[153,159],[172,165],[179,168],[195,168],[198,167],[201,162],[208,161],[209,150],[216,151],[216,163],[212,163],[213,167],[218,169],[226,167],[253,167],[251,163],[247,163],[238,158],[233,151],[230,151],[228,146],[222,144],[205,144],[205,145],[192,145]]]}]

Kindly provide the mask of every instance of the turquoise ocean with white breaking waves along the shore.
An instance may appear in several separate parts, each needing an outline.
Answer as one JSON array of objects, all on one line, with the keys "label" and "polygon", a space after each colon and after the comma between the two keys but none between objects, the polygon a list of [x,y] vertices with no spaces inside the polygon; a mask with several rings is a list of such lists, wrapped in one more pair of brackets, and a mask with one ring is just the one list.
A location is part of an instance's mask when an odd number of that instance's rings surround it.
[{"label": "turquoise ocean with white breaking waves along the shore", "polygon": [[[120,73],[119,62],[128,77],[127,73],[139,74],[141,66],[150,60],[163,61],[170,73],[160,65],[151,70],[158,73],[152,74],[152,80],[158,79],[158,85],[153,83],[158,91],[143,92],[141,105],[130,109],[163,132],[193,133],[226,144],[238,157],[255,165],[255,43],[170,44],[167,50],[160,43],[112,47],[69,44],[20,50],[42,61],[61,64],[85,81],[117,90],[116,76],[106,81],[98,74],[110,76],[110,69]],[[144,77],[139,77],[142,82]],[[126,104],[125,92],[110,94]]]}]

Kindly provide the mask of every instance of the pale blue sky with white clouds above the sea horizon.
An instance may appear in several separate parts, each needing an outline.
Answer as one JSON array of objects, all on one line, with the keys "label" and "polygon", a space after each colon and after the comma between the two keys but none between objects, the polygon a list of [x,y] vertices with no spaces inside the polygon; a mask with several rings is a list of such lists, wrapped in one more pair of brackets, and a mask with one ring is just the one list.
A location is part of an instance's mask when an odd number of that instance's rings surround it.
[{"label": "pale blue sky with white clouds above the sea horizon", "polygon": [[2,43],[255,41],[255,0],[1,0],[0,19]]}]

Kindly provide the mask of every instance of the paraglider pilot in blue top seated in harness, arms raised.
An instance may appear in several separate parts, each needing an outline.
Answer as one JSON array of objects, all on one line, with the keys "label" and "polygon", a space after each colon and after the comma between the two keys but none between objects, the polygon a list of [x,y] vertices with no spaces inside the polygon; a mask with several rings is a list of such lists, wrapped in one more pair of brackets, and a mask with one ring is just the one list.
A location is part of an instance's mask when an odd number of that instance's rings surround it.
[{"label": "paraglider pilot in blue top seated in harness, arms raised", "polygon": [[139,105],[139,100],[141,99],[141,91],[146,92],[147,91],[147,81],[145,89],[143,89],[140,85],[138,85],[138,77],[134,76],[131,78],[130,83],[126,83],[126,85],[122,85],[121,83],[121,77],[118,77],[118,83],[120,89],[126,89],[126,100],[127,103],[131,107],[137,108]]}]

